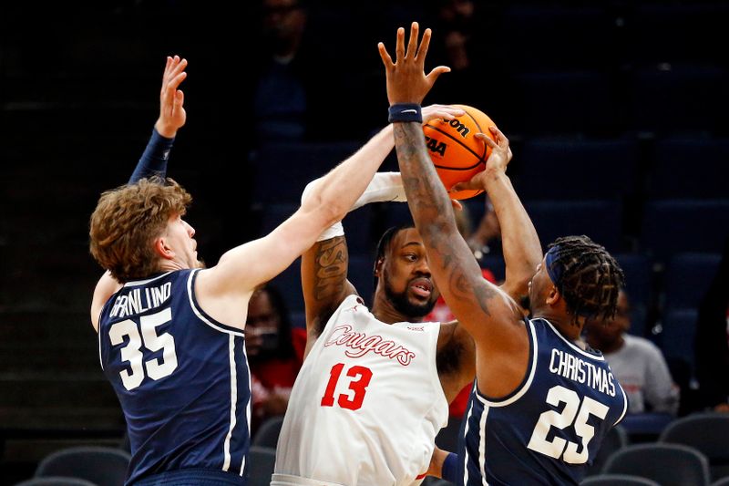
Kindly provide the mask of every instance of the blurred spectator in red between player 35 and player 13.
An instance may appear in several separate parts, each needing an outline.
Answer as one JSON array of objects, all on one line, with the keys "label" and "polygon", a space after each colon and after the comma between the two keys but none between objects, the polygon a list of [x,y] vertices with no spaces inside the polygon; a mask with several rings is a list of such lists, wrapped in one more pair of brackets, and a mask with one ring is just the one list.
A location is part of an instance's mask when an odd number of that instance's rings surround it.
[{"label": "blurred spectator in red between player 35 and player 13", "polygon": [[286,412],[305,345],[306,333],[293,332],[281,293],[270,284],[262,286],[251,297],[245,329],[251,365],[252,429]]}]

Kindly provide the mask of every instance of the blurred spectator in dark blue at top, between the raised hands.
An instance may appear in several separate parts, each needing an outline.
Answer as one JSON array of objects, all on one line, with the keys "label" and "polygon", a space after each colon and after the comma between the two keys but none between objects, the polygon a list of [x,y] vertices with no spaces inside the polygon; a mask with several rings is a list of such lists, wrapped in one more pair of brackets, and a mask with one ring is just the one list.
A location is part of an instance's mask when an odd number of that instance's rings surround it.
[{"label": "blurred spectator in dark blue at top, between the raised hands", "polygon": [[302,60],[307,12],[303,0],[263,0],[262,48],[253,96],[255,131],[260,142],[302,140],[307,94]]}]

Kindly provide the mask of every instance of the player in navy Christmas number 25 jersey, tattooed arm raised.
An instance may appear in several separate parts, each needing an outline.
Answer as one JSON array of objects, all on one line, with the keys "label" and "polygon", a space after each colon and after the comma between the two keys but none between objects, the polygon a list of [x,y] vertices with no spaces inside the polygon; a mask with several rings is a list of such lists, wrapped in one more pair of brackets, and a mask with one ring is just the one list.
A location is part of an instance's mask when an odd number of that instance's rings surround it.
[{"label": "player in navy Christmas number 25 jersey, tattooed arm raised", "polygon": [[[467,486],[481,484],[578,484],[601,440],[623,417],[625,394],[604,357],[580,346],[585,316],[615,313],[619,265],[586,236],[560,238],[529,284],[533,317],[481,277],[457,232],[451,203],[427,155],[423,130],[412,112],[426,87],[408,62],[416,52],[413,24],[406,47],[398,30],[396,62],[385,47],[387,96],[395,148],[417,231],[430,270],[458,322],[476,343],[477,380],[471,394],[459,454],[442,453],[442,475]],[[422,71],[422,68],[420,69]],[[486,187],[499,221],[517,207],[506,176],[508,140],[496,141],[485,171],[454,191]],[[504,245],[513,244],[505,239]]]}]

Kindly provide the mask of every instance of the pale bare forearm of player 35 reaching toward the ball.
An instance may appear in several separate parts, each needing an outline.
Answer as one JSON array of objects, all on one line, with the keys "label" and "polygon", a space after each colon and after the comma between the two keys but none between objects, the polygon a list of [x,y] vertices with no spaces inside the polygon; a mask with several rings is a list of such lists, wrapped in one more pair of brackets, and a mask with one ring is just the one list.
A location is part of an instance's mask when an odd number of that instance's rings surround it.
[{"label": "pale bare forearm of player 35 reaching toward the ball", "polygon": [[306,209],[323,204],[338,215],[337,221],[341,220],[367,189],[375,172],[392,149],[392,126],[388,126],[380,130],[352,157],[314,181],[303,196],[302,207]]}]

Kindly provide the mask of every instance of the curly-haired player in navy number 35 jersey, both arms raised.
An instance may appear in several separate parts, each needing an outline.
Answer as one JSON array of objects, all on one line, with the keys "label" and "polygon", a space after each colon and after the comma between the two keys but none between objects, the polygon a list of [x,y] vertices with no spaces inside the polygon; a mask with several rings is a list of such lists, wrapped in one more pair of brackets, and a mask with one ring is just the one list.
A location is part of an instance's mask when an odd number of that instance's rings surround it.
[{"label": "curly-haired player in navy number 35 jersey, both arms raised", "polygon": [[127,484],[245,484],[249,299],[344,217],[381,163],[364,149],[355,153],[272,233],[201,268],[195,231],[182,219],[190,194],[162,178],[185,122],[178,88],[186,64],[168,58],[148,150],[130,183],[104,192],[91,216],[91,253],[108,270],[94,291],[91,322],[127,419]]}]

